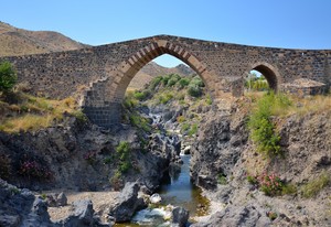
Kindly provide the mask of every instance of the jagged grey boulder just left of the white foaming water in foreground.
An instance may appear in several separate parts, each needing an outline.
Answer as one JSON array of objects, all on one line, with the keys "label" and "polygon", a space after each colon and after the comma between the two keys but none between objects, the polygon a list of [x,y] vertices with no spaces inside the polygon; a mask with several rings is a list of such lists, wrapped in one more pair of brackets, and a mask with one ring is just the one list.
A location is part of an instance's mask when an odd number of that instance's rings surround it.
[{"label": "jagged grey boulder just left of the white foaming water in foreground", "polygon": [[116,223],[129,221],[135,212],[145,207],[143,198],[138,198],[138,183],[126,183],[118,203],[109,210],[109,215],[115,218]]}]

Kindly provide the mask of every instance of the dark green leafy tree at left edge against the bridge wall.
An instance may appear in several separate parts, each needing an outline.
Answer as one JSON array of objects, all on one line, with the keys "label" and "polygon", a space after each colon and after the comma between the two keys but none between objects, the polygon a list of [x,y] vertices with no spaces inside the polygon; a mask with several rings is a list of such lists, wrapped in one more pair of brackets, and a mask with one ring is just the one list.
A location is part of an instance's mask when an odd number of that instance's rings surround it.
[{"label": "dark green leafy tree at left edge against the bridge wall", "polygon": [[17,72],[9,62],[0,64],[0,91],[7,93],[13,88],[18,80]]}]

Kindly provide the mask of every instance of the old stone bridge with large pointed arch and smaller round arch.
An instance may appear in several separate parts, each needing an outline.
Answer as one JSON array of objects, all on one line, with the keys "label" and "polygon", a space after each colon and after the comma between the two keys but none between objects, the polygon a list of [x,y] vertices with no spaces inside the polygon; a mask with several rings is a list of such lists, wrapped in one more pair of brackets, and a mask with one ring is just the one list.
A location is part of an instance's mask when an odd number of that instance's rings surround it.
[{"label": "old stone bridge with large pointed arch and smaller round arch", "polygon": [[252,69],[260,72],[275,90],[297,89],[296,82],[305,78],[325,88],[331,83],[330,50],[270,48],[170,35],[6,60],[14,64],[19,80],[28,82],[36,94],[53,98],[82,94],[81,105],[89,119],[110,127],[120,119],[132,77],[162,54],[194,69],[215,102],[242,96]]}]

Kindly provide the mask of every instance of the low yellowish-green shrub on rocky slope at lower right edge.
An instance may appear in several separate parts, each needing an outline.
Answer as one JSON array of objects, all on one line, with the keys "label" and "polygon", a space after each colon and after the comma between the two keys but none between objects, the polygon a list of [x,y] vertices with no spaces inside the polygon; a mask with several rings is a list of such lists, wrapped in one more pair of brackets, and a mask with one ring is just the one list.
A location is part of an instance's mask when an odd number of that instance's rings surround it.
[{"label": "low yellowish-green shrub on rocky slope at lower right edge", "polygon": [[322,173],[318,179],[308,182],[305,186],[302,186],[302,196],[306,198],[310,198],[319,194],[325,186],[330,185],[331,179],[328,173]]}]

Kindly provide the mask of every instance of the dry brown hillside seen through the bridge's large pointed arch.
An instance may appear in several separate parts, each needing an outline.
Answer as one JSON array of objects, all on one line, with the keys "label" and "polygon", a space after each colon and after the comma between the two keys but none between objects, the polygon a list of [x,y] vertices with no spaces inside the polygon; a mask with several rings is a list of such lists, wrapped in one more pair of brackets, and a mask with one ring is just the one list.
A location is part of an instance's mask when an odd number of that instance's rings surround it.
[{"label": "dry brown hillside seen through the bridge's large pointed arch", "polygon": [[143,85],[152,80],[156,76],[163,76],[168,74],[179,74],[181,76],[189,76],[194,73],[195,72],[192,68],[184,64],[179,64],[175,67],[168,68],[158,65],[154,62],[150,62],[137,73],[137,75],[131,80],[129,87],[132,89],[142,88]]}]

